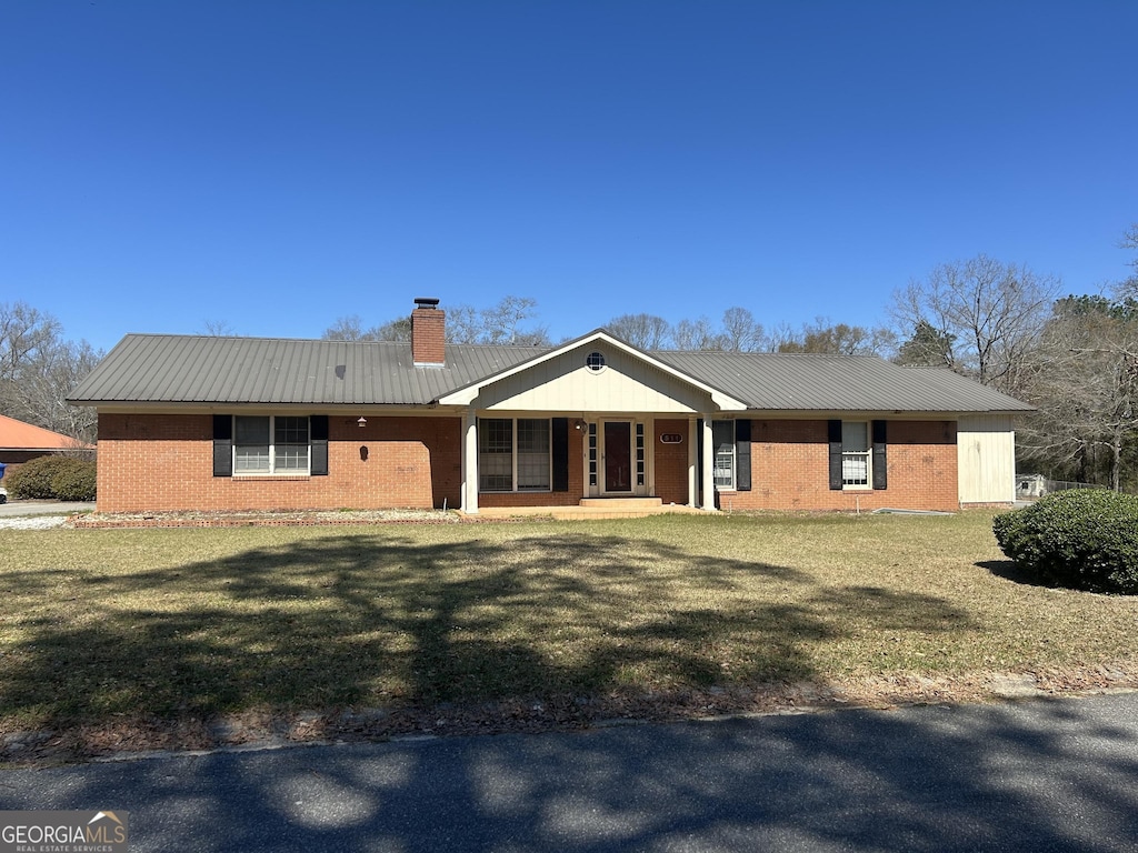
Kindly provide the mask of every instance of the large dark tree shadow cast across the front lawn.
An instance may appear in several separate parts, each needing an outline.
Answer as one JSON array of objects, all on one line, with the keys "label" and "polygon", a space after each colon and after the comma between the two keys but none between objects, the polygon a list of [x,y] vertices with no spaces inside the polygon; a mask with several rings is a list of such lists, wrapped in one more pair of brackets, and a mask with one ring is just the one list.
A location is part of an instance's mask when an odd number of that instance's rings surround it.
[{"label": "large dark tree shadow cast across the front lawn", "polygon": [[3,580],[23,599],[75,599],[74,618],[30,614],[0,660],[0,714],[39,727],[811,680],[811,645],[841,637],[851,611],[914,631],[968,623],[929,596],[588,533],[340,535]]}]

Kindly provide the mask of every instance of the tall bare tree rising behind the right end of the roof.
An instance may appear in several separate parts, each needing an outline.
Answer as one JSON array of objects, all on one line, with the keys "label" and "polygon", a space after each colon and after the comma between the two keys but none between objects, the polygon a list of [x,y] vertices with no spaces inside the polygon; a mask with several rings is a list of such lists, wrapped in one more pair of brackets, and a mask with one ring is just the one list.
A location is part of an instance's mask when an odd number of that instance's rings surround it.
[{"label": "tall bare tree rising behind the right end of the roof", "polygon": [[906,334],[921,323],[951,338],[954,366],[984,384],[1015,391],[1017,368],[1047,322],[1058,281],[987,255],[942,264],[893,295]]}]

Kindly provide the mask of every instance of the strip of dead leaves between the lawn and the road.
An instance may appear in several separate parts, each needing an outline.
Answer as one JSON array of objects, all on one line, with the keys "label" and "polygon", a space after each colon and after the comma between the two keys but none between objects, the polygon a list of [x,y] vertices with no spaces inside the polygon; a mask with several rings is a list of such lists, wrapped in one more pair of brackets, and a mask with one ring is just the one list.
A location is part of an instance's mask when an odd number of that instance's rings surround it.
[{"label": "strip of dead leaves between the lawn and the road", "polygon": [[599,697],[511,698],[430,707],[249,711],[214,720],[115,717],[58,731],[8,732],[0,764],[49,767],[155,753],[253,750],[417,737],[542,734],[621,724],[835,709],[890,710],[1138,689],[1138,668],[1046,668],[959,677],[880,676],[835,685],[770,684]]}]

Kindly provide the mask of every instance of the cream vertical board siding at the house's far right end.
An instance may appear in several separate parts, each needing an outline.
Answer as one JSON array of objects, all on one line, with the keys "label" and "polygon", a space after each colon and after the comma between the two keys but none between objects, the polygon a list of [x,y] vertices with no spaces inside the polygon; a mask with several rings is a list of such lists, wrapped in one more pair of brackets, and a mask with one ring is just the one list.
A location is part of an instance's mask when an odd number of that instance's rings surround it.
[{"label": "cream vertical board siding at the house's far right end", "polygon": [[1015,430],[1011,415],[962,415],[956,452],[962,504],[1015,500]]}]

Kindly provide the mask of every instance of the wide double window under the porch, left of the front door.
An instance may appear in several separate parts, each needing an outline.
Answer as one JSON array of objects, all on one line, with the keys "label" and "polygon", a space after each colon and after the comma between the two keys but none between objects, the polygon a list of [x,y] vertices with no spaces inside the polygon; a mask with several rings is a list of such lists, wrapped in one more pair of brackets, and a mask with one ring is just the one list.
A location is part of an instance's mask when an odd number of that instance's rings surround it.
[{"label": "wide double window under the porch, left of the front door", "polygon": [[479,417],[479,491],[550,491],[550,419]]}]

